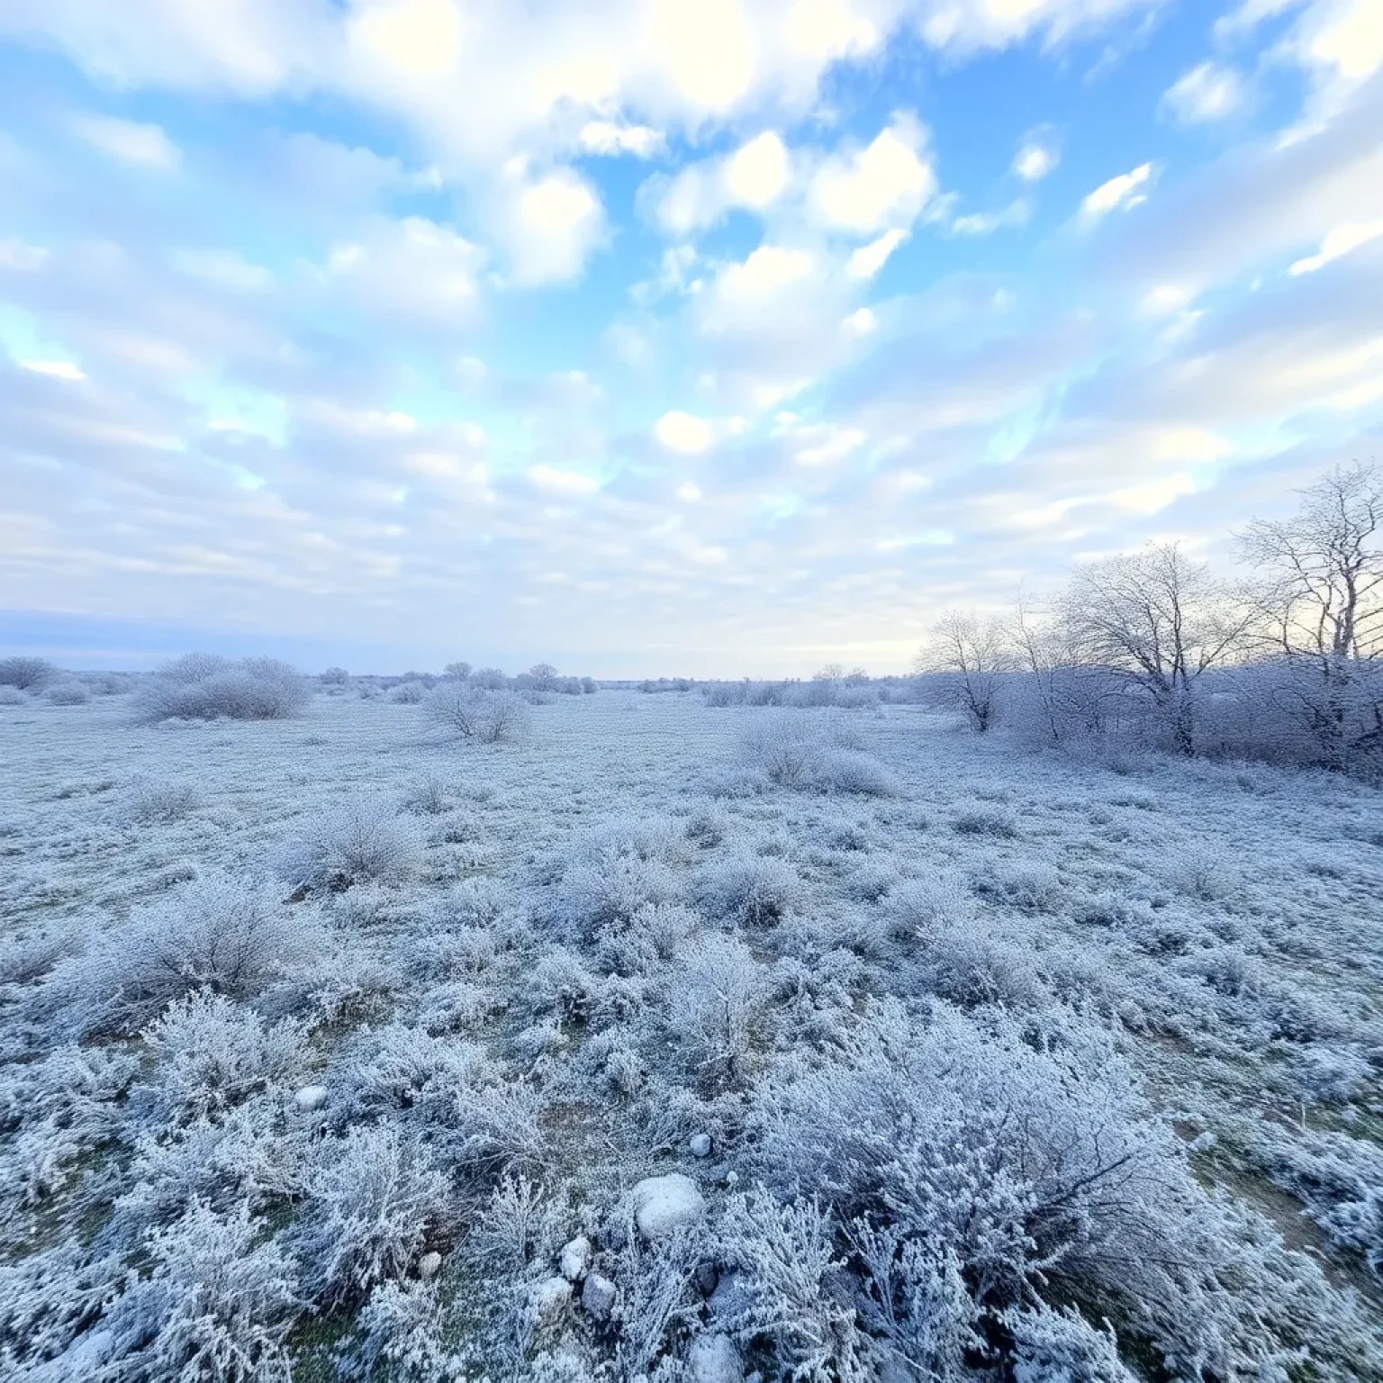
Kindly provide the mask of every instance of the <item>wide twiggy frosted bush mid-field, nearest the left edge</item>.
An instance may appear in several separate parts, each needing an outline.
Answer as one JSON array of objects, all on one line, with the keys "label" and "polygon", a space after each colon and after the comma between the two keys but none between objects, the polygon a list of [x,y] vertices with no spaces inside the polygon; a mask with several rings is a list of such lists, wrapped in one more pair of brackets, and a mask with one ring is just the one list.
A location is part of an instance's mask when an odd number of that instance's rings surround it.
[{"label": "wide twiggy frosted bush mid-field, nearest the left edge", "polygon": [[308,938],[261,889],[212,877],[148,909],[76,964],[93,1025],[133,1030],[198,989],[257,994]]}]

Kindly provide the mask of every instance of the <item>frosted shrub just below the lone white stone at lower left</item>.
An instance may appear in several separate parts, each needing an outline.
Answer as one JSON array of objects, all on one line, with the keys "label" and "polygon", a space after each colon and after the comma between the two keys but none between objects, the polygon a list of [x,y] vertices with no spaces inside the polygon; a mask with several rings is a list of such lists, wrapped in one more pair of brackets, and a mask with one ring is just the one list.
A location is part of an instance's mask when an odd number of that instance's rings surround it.
[{"label": "frosted shrub just below the lone white stone at lower left", "polygon": [[393,1124],[351,1129],[321,1145],[290,1232],[313,1297],[360,1300],[405,1277],[431,1232],[449,1224],[447,1177]]}]

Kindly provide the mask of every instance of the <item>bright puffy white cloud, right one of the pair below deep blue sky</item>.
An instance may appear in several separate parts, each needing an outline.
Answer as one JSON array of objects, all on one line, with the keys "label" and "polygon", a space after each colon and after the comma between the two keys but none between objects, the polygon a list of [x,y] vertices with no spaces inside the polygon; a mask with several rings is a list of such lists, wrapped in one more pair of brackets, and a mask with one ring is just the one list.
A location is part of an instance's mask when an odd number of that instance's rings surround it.
[{"label": "bright puffy white cloud, right one of the pair below deep blue sky", "polygon": [[935,191],[927,131],[903,113],[866,148],[826,159],[812,180],[826,224],[859,234],[910,225]]}]

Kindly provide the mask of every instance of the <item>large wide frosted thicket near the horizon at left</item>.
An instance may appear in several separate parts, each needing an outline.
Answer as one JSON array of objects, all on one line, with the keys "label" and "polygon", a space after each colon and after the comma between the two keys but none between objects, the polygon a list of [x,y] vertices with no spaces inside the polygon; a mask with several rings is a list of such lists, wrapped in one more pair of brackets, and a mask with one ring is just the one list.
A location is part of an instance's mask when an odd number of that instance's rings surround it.
[{"label": "large wide frosted thicket near the horizon at left", "polygon": [[296,668],[278,658],[232,661],[187,653],[166,662],[136,694],[138,719],[282,721],[306,705],[310,692]]}]

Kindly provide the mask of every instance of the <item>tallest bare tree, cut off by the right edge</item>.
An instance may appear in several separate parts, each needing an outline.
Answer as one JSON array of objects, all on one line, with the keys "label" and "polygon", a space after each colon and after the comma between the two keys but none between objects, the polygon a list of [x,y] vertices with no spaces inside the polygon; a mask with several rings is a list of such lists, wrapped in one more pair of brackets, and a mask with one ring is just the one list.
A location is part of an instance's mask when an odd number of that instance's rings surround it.
[{"label": "tallest bare tree, cut off by the right edge", "polygon": [[1343,770],[1383,744],[1383,474],[1336,466],[1301,491],[1292,519],[1257,520],[1241,542],[1265,574],[1259,607],[1283,674],[1277,700]]}]

